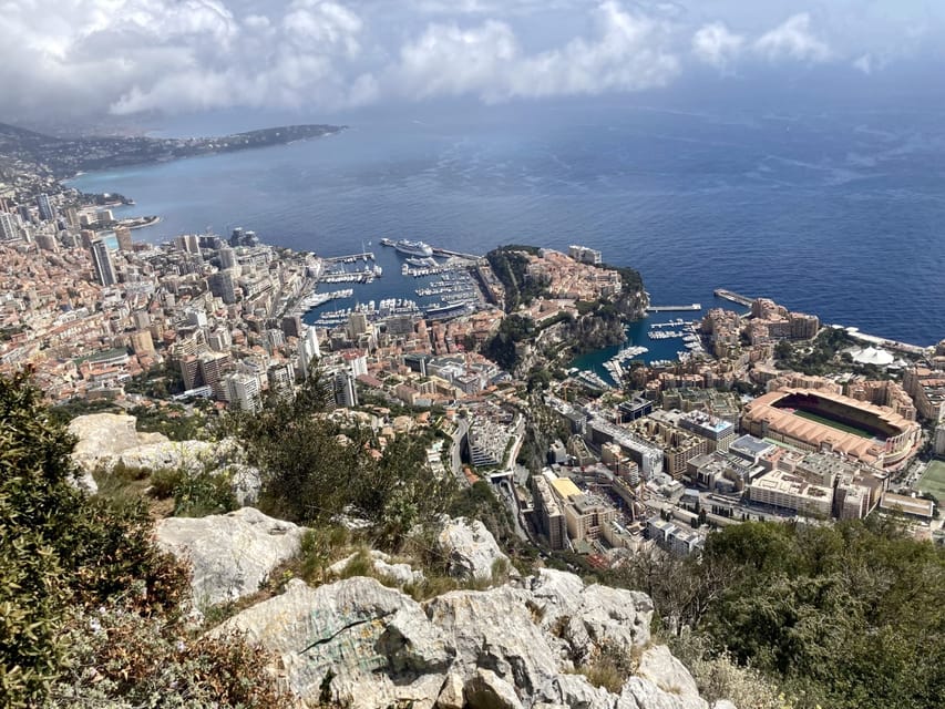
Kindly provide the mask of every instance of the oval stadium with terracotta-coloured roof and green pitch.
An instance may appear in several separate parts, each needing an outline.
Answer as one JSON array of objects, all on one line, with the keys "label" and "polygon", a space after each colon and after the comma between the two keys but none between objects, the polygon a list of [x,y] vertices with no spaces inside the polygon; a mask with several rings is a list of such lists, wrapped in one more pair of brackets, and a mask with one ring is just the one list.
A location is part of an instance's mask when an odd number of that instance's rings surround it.
[{"label": "oval stadium with terracotta-coloured roof and green pitch", "polygon": [[834,451],[876,467],[895,469],[910,459],[920,427],[892,409],[841,394],[784,388],[752,401],[742,428],[808,451]]}]

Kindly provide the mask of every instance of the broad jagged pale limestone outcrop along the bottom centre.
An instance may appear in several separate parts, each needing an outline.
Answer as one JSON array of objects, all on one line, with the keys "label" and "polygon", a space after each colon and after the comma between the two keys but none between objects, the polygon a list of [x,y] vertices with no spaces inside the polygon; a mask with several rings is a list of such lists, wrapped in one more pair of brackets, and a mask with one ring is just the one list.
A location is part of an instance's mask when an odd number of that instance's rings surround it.
[{"label": "broad jagged pale limestone outcrop along the bottom centre", "polygon": [[[686,668],[651,645],[651,615],[644,594],[562,572],[423,604],[355,577],[315,589],[290,582],[213,633],[245,633],[274,651],[309,706],[708,709]],[[618,693],[576,671],[615,651],[638,659]]]}]

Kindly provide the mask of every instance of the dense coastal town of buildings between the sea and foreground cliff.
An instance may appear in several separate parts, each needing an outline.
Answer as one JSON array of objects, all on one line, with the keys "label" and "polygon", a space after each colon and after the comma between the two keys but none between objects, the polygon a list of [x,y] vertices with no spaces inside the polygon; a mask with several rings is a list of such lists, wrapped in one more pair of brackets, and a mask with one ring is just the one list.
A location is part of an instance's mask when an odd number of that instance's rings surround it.
[{"label": "dense coastal town of buildings between the sea and foreground cliff", "polygon": [[[486,258],[441,254],[412,268],[445,274],[444,306],[314,318],[348,276],[379,274],[238,228],[145,243],[99,202],[0,199],[0,372],[28,368],[52,403],[253,412],[317,374],[333,415],[384,440],[433,433],[431,475],[492,483],[523,540],[605,567],[653,546],[696,553],[751,520],[877,515],[945,538],[945,341],[886,342],[742,299],[672,326],[691,345],[677,360],[628,356],[607,381],[569,366],[568,328],[626,291],[594,249],[510,247],[517,285]],[[505,332],[512,316],[524,337]],[[506,335],[512,359],[490,359]]]}]

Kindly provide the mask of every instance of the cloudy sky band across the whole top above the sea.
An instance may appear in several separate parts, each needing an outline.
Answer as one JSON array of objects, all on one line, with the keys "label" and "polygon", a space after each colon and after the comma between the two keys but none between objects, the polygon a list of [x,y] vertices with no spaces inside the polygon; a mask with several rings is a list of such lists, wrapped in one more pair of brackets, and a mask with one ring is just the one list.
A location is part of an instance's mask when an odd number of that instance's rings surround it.
[{"label": "cloudy sky band across the whole top above the sea", "polygon": [[879,78],[943,31],[939,0],[0,0],[0,120]]}]

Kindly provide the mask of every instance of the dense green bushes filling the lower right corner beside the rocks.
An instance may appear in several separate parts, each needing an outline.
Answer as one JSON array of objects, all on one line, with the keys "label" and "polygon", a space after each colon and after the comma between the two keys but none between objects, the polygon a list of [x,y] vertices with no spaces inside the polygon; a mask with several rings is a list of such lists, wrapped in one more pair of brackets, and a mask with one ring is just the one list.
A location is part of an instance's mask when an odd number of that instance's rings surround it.
[{"label": "dense green bushes filling the lower right corner beside the rocks", "polygon": [[[680,657],[725,654],[799,709],[941,703],[945,551],[895,526],[741,524],[701,558],[638,556],[607,580],[654,598]],[[712,649],[692,657],[692,637]]]}]

